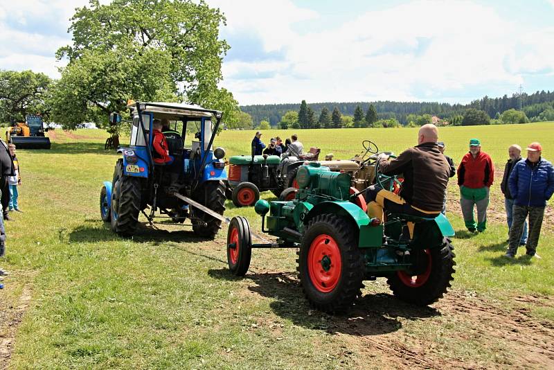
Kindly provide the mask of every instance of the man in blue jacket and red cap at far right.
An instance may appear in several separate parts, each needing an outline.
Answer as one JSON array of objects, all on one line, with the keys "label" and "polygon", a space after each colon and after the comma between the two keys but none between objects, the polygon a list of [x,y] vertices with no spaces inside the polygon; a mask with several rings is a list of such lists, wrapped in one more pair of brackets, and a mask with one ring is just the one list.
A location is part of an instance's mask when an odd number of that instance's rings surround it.
[{"label": "man in blue jacket and red cap at far right", "polygon": [[537,256],[537,244],[541,234],[544,207],[554,193],[554,167],[542,159],[542,146],[531,143],[527,148],[527,159],[515,164],[508,187],[514,198],[512,209],[512,227],[510,227],[510,244],[506,257],[514,258],[521,238],[524,222],[529,215],[529,236],[527,238],[527,255]]}]

